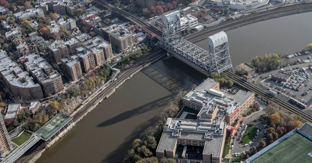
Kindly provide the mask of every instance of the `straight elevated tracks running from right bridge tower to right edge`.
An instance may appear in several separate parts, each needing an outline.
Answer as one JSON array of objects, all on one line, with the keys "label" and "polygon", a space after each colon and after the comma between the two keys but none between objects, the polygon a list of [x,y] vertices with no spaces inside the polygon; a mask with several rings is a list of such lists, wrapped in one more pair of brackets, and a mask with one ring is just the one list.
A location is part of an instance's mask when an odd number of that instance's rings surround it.
[{"label": "straight elevated tracks running from right bridge tower to right edge", "polygon": [[259,96],[262,96],[263,98],[265,98],[268,101],[271,101],[273,103],[275,103],[277,106],[280,106],[281,108],[285,109],[286,111],[289,111],[292,114],[295,115],[299,115],[301,116],[302,119],[304,119],[305,121],[308,121],[309,123],[312,122],[312,116],[308,115],[305,111],[302,111],[290,104],[288,104],[286,101],[284,100],[280,100],[278,97],[273,97],[271,95],[269,95],[267,92],[264,92],[262,89],[260,89],[259,87],[252,85],[248,82],[245,82],[244,80],[242,80],[240,77],[236,76],[235,74],[233,74],[232,72],[225,72],[233,81],[235,81],[237,84],[245,87],[246,89],[258,94]]}]

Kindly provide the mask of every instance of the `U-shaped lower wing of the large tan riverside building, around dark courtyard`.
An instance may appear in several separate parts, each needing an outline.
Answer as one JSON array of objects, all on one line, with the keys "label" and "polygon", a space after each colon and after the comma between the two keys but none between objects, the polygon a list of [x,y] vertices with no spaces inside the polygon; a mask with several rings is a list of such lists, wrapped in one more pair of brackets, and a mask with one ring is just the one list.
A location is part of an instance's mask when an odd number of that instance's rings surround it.
[{"label": "U-shaped lower wing of the large tan riverside building, around dark courtyard", "polygon": [[156,156],[174,158],[177,162],[220,163],[226,128],[223,121],[168,118]]}]

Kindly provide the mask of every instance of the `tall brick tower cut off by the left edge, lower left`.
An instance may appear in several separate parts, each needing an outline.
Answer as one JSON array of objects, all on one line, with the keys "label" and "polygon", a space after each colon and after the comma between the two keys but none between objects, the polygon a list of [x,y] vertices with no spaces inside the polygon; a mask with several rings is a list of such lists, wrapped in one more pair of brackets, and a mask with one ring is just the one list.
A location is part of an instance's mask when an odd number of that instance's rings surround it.
[{"label": "tall brick tower cut off by the left edge, lower left", "polygon": [[12,150],[12,143],[7,132],[7,128],[4,124],[3,117],[0,117],[0,154],[2,157],[6,156],[10,150]]}]

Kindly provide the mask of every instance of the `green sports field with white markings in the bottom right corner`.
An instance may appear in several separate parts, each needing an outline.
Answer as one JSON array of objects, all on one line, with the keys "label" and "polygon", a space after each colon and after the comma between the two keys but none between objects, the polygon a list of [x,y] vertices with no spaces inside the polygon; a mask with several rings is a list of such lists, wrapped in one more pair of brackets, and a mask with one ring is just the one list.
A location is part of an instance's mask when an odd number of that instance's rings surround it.
[{"label": "green sports field with white markings in the bottom right corner", "polygon": [[[295,132],[268,151],[251,160],[251,163],[311,163],[312,141]],[[310,155],[311,156],[310,156]]]}]

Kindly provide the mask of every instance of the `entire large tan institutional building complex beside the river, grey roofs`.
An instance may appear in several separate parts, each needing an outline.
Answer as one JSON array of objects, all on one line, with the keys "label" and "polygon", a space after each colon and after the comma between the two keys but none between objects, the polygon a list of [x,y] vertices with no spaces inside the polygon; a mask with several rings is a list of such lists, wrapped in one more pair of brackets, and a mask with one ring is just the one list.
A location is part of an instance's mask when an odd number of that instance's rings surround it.
[{"label": "entire large tan institutional building complex beside the river, grey roofs", "polygon": [[[226,131],[254,103],[254,93],[238,91],[234,96],[219,91],[208,78],[182,99],[184,106],[198,110],[197,120],[168,118],[156,156],[176,161],[220,163]],[[188,158],[185,155],[188,155]]]}]

